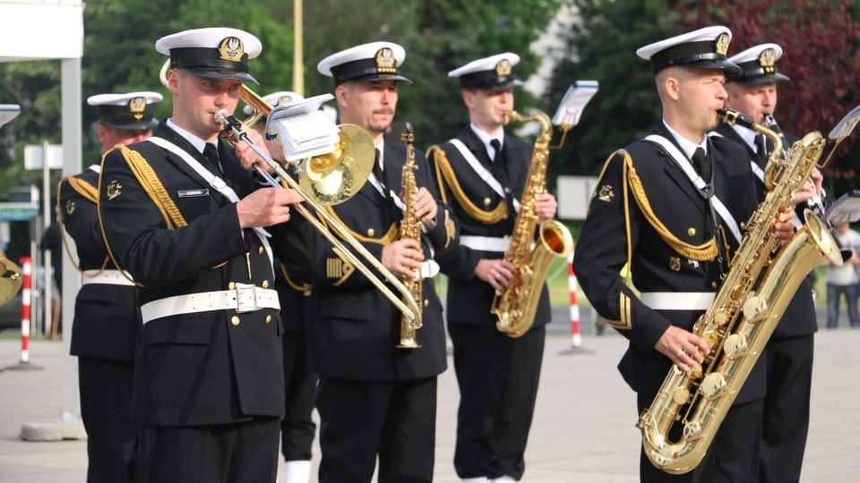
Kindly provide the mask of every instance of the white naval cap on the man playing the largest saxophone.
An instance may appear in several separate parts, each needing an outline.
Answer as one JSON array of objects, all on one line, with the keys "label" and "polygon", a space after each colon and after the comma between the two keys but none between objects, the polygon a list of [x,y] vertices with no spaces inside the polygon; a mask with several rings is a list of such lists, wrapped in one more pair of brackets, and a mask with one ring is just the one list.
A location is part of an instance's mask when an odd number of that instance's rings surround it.
[{"label": "white naval cap on the man playing the largest saxophone", "polygon": [[636,55],[650,61],[655,74],[667,67],[681,66],[718,69],[731,75],[741,71],[726,58],[731,40],[732,31],[727,27],[705,27],[641,47]]}]

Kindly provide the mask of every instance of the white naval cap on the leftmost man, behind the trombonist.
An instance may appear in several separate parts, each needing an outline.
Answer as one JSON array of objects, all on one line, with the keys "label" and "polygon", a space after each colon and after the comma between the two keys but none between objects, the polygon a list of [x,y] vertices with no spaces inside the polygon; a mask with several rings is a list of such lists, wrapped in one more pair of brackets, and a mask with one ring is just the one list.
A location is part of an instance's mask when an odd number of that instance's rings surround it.
[{"label": "white naval cap on the leftmost man, behind the trombonist", "polygon": [[120,131],[155,129],[151,105],[161,102],[158,92],[139,91],[127,94],[98,94],[87,98],[87,104],[99,111],[99,121]]}]

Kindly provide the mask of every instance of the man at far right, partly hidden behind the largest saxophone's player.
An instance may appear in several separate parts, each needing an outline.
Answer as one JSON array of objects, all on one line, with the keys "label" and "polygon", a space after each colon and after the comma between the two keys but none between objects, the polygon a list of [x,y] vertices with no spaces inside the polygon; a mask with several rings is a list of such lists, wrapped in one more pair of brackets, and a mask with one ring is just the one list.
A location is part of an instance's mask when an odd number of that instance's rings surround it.
[{"label": "man at far right, partly hidden behind the largest saxophone's player", "polygon": [[[743,69],[727,76],[726,107],[746,114],[753,121],[782,137],[784,149],[791,148],[796,136],[784,134],[773,120],[777,108],[777,84],[788,77],[778,72],[782,56],[777,44],[750,47],[729,61]],[[719,123],[717,135],[733,140],[746,149],[759,200],[764,199],[764,170],[773,144],[763,135],[741,125]],[[713,133],[712,133],[713,134]],[[822,199],[821,172],[816,168],[810,182],[797,191],[796,225],[803,220],[808,199]],[[813,381],[813,334],[818,330],[813,299],[813,276],[804,279],[779,321],[763,359],[767,365],[767,386],[761,429],[759,481],[798,481],[804,462],[806,433],[809,428],[809,399]]]}]

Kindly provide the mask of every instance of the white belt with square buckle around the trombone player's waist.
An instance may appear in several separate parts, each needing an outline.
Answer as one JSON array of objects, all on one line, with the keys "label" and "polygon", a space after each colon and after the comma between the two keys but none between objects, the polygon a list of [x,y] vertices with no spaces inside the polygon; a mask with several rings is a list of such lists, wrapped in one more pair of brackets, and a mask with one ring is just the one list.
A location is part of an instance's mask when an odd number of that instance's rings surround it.
[{"label": "white belt with square buckle around the trombone player's waist", "polygon": [[189,293],[150,301],[141,306],[141,315],[146,324],[156,318],[226,309],[236,309],[239,314],[259,309],[280,310],[278,292],[249,284],[236,284],[234,290]]}]

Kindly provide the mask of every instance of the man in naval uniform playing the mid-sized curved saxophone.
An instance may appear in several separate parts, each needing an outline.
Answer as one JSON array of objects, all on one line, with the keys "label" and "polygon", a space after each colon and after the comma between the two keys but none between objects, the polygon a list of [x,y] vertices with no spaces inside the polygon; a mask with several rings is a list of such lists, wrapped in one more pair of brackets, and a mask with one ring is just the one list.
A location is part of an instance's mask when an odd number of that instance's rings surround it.
[{"label": "man in naval uniform playing the mid-sized curved saxophone", "polygon": [[[518,339],[499,332],[490,313],[495,291],[511,284],[517,267],[503,260],[532,147],[504,133],[521,84],[510,53],[477,59],[448,72],[459,78],[469,126],[457,138],[430,148],[443,201],[460,224],[460,246],[439,259],[449,275],[448,332],[460,385],[454,468],[467,481],[520,479],[529,437],[546,324],[546,284],[529,331]],[[539,194],[535,210],[555,216],[555,198]]]}]

